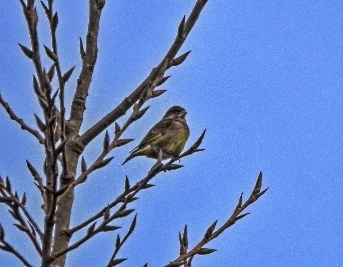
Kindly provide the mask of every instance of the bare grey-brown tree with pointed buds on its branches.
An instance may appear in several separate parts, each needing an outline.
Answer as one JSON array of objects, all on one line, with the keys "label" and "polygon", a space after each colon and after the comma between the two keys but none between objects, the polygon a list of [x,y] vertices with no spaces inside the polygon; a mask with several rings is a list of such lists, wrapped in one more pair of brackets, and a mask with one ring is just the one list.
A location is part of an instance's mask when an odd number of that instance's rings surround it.
[{"label": "bare grey-brown tree with pointed buds on its branches", "polygon": [[[106,157],[108,153],[120,146],[126,145],[133,139],[122,139],[123,132],[134,122],[139,120],[147,108],[142,106],[152,98],[162,95],[165,90],[157,90],[156,87],[162,85],[169,76],[164,76],[165,72],[172,66],[181,64],[189,54],[189,51],[176,57],[180,47],[196,23],[200,12],[207,0],[197,0],[187,20],[184,16],[177,28],[176,38],[171,44],[165,57],[161,62],[151,70],[145,80],[135,88],[120,104],[111,110],[106,116],[96,122],[85,132],[80,133],[80,127],[83,122],[88,89],[91,84],[92,74],[97,58],[97,40],[99,21],[105,0],[89,0],[89,19],[88,31],[85,38],[85,48],[80,38],[80,56],[82,59],[82,69],[75,87],[74,98],[70,107],[70,117],[66,119],[64,106],[64,86],[68,82],[74,67],[66,73],[62,73],[60,59],[57,49],[56,28],[58,26],[58,15],[54,12],[52,6],[53,0],[47,0],[47,3],[41,1],[42,7],[46,13],[50,25],[51,45],[44,46],[46,55],[51,59],[52,64],[46,69],[43,67],[41,54],[39,52],[39,38],[37,32],[38,15],[34,0],[27,0],[25,3],[20,0],[24,16],[27,21],[27,28],[31,39],[31,49],[20,45],[26,57],[31,59],[36,74],[33,75],[33,90],[37,96],[38,103],[42,109],[44,118],[39,118],[35,114],[35,119],[39,131],[28,126],[22,119],[18,118],[9,104],[0,95],[0,103],[9,114],[10,119],[20,124],[22,130],[31,133],[44,146],[45,160],[43,162],[44,174],[40,174],[37,169],[26,161],[27,168],[32,174],[34,183],[43,199],[42,209],[44,211],[44,222],[37,222],[29,210],[26,208],[26,195],[21,198],[12,188],[8,177],[0,178],[0,202],[7,205],[9,213],[16,221],[14,226],[24,232],[34,245],[35,250],[40,256],[41,266],[64,266],[68,252],[76,249],[79,245],[93,238],[101,232],[116,231],[119,227],[112,223],[116,219],[129,216],[133,209],[128,206],[131,202],[137,200],[137,193],[141,190],[153,186],[149,182],[160,172],[176,170],[182,165],[175,164],[175,161],[193,153],[202,151],[198,149],[205,131],[198,140],[188,148],[178,158],[173,158],[167,163],[162,163],[162,153],[151,167],[146,176],[134,185],[130,185],[129,179],[125,177],[125,186],[120,195],[97,214],[86,219],[79,225],[70,227],[71,208],[73,204],[73,195],[75,186],[84,183],[89,174],[99,168],[103,168],[112,160],[112,157]],[[53,90],[51,81],[56,73],[59,88]],[[126,112],[132,107],[131,114],[126,122],[120,127],[116,120],[125,116]],[[110,138],[106,128],[114,123],[114,135]],[[106,130],[106,131],[105,131]],[[105,131],[102,153],[90,165],[81,156],[87,145],[100,133]],[[81,156],[80,165],[78,162]],[[80,168],[81,174],[76,175],[76,170]],[[267,189],[261,190],[262,174],[260,173],[256,185],[245,203],[242,201],[242,194],[239,197],[238,205],[232,216],[216,231],[216,222],[214,222],[205,232],[202,240],[190,250],[188,249],[187,227],[181,236],[179,233],[180,250],[179,257],[171,261],[166,266],[191,266],[195,255],[203,255],[214,252],[211,248],[203,247],[212,239],[215,239],[225,229],[234,224],[237,220],[245,217],[248,213],[241,214],[250,204],[255,202]],[[128,236],[133,232],[136,224],[134,215],[131,225],[128,227],[126,235],[120,239],[117,235],[113,255],[108,260],[107,267],[116,266],[123,262],[124,258],[116,258],[118,251]],[[44,225],[40,229],[39,225]],[[71,236],[80,230],[85,230],[84,236],[75,243],[70,244]],[[33,266],[25,258],[22,252],[18,252],[12,244],[5,238],[3,227],[0,225],[0,249],[15,255],[25,266]],[[187,252],[188,251],[188,252]],[[144,266],[147,266],[145,264]]]}]

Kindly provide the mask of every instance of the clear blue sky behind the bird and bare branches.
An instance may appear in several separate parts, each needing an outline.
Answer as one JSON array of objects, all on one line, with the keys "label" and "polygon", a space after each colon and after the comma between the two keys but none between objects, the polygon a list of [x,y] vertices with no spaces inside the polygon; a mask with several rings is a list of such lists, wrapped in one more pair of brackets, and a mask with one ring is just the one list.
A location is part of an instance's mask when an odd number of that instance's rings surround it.
[{"label": "clear blue sky behind the bird and bare branches", "polygon": [[[81,132],[159,63],[194,2],[106,1]],[[40,46],[50,47],[45,14],[37,5]],[[68,106],[81,69],[78,42],[85,39],[87,1],[56,1],[55,10],[62,70],[75,66],[65,89]],[[156,186],[130,205],[137,227],[119,252],[129,258],[120,266],[164,266],[177,258],[185,223],[192,247],[215,220],[218,226],[226,221],[241,191],[248,197],[260,170],[262,187],[270,189],[247,209],[250,215],[206,245],[217,252],[194,257],[193,265],[342,266],[342,29],[342,1],[209,0],[180,50],[192,52],[166,73],[172,75],[161,88],[167,92],[149,101],[150,109],[123,136],[136,141],[113,151],[110,165],[75,190],[71,225],[111,202],[125,174],[131,184],[145,176],[151,159],[120,164],[170,106],[180,105],[188,111],[191,131],[186,147],[206,128],[201,145],[206,150],[182,159],[184,168],[159,174],[152,181]],[[0,36],[0,93],[34,127],[33,113],[40,109],[32,92],[33,66],[17,46],[29,46],[19,1],[0,3]],[[49,68],[51,62],[45,58],[44,64]],[[40,194],[25,160],[42,173],[44,151],[3,109],[0,125],[0,175],[10,177],[19,195],[26,192],[28,208],[42,219]],[[113,136],[113,126],[108,131]],[[102,138],[84,152],[88,164],[101,152]],[[123,227],[121,237],[132,217],[116,222]],[[7,240],[38,266],[34,248],[11,226],[4,205],[0,218]],[[68,255],[67,266],[106,265],[115,236],[101,234],[80,246]],[[12,255],[0,252],[0,258],[4,266],[20,266]]]}]

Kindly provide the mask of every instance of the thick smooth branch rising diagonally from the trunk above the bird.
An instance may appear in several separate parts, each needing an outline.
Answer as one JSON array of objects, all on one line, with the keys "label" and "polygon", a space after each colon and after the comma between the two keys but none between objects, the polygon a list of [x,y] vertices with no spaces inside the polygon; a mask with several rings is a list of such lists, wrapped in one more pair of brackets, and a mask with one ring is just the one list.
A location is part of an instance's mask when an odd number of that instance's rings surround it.
[{"label": "thick smooth branch rising diagonally from the trunk above the bird", "polygon": [[109,112],[106,116],[100,119],[90,129],[88,129],[80,136],[80,140],[84,145],[90,143],[110,124],[112,124],[121,116],[125,115],[126,111],[134,104],[134,102],[136,102],[140,98],[144,88],[146,88],[146,86],[149,86],[149,84],[152,84],[154,82],[157,73],[160,72],[165,62],[167,62],[166,70],[169,69],[171,66],[176,65],[176,62],[173,63],[173,61],[175,60],[174,58],[179,49],[181,48],[182,44],[184,43],[187,35],[194,26],[195,22],[197,21],[199,14],[203,9],[204,5],[206,4],[206,2],[207,0],[197,0],[187,21],[185,22],[185,18],[182,19],[180,23],[181,27],[179,26],[178,34],[174,40],[174,43],[169,48],[167,54],[162,59],[162,61],[155,68],[152,69],[149,76],[147,76],[146,79],[114,110]]}]

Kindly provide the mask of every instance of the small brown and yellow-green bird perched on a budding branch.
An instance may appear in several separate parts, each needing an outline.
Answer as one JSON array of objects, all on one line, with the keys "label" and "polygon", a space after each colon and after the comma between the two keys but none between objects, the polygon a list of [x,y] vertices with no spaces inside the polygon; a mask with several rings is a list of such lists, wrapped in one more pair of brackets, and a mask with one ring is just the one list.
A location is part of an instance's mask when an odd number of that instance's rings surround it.
[{"label": "small brown and yellow-green bird perched on a budding branch", "polygon": [[122,165],[138,156],[157,159],[160,150],[162,160],[177,158],[189,137],[186,114],[186,110],[180,106],[169,108],[163,118],[147,132],[139,145],[129,152],[130,156]]}]

